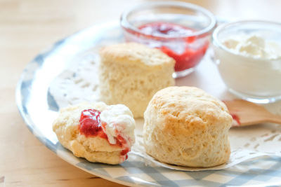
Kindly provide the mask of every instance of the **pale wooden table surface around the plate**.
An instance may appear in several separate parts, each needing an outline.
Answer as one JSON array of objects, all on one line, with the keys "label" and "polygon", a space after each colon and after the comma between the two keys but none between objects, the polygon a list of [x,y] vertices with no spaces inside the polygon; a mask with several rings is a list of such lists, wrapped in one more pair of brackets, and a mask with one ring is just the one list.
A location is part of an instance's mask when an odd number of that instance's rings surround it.
[{"label": "pale wooden table surface around the plate", "polygon": [[[148,1],[148,0],[147,0]],[[141,0],[0,0],[0,187],[122,186],[58,158],[25,126],[15,104],[22,69],[55,41],[96,22],[118,20]],[[194,0],[226,18],[280,21],[278,0]]]}]

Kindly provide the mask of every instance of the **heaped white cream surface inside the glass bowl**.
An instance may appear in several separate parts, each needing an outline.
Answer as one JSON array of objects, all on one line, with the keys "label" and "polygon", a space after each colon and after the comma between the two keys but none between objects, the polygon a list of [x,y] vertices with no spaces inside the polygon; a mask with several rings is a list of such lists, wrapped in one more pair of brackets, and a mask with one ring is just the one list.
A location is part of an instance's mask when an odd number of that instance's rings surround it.
[{"label": "heaped white cream surface inside the glass bowl", "polygon": [[249,57],[268,60],[281,57],[281,46],[273,41],[266,41],[260,34],[231,36],[223,44],[233,52]]}]

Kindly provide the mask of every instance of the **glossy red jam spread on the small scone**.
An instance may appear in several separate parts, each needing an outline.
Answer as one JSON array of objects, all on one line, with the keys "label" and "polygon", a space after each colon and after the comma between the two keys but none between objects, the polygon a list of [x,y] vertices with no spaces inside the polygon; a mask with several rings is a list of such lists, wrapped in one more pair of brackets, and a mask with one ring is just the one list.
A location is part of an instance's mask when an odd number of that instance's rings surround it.
[{"label": "glossy red jam spread on the small scone", "polygon": [[[103,126],[102,126],[103,125]],[[100,111],[96,109],[86,109],[81,112],[80,120],[79,120],[79,130],[81,134],[84,134],[85,137],[101,137],[107,139],[107,134],[103,131],[103,127],[107,124],[101,122],[100,120]],[[130,151],[126,139],[122,137],[119,132],[116,131],[117,137],[115,138],[116,144],[115,146],[119,146],[122,148],[121,155],[126,156],[127,153]],[[110,142],[108,141],[110,144]],[[112,144],[111,144],[112,145]]]}]

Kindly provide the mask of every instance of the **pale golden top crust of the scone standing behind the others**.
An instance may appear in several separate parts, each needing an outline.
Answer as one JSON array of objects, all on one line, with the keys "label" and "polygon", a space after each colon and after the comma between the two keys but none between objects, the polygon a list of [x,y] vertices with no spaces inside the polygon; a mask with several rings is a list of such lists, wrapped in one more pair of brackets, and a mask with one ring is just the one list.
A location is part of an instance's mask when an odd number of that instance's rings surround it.
[{"label": "pale golden top crust of the scone standing behind the others", "polygon": [[175,60],[161,50],[149,48],[140,43],[118,43],[100,50],[103,62],[115,62],[120,64],[138,64],[139,66],[162,66],[172,64]]}]

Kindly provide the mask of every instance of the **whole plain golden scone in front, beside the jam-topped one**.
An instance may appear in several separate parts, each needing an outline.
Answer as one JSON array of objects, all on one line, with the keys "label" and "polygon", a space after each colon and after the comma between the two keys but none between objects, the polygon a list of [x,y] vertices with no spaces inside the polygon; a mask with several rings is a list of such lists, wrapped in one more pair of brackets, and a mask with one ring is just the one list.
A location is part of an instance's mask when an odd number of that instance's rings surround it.
[{"label": "whole plain golden scone in front, beside the jam-topped one", "polygon": [[144,113],[143,141],[153,158],[173,165],[212,167],[228,161],[232,117],[223,102],[194,87],[169,87]]}]

